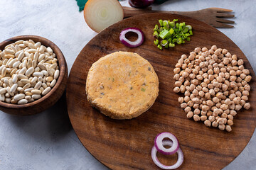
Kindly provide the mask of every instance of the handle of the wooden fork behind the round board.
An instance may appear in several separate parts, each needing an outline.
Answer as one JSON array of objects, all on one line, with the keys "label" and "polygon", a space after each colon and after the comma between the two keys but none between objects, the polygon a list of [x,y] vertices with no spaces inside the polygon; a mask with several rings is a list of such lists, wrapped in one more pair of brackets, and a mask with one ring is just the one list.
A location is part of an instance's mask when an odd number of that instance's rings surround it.
[{"label": "handle of the wooden fork behind the round board", "polygon": [[[143,14],[143,13],[174,13],[174,14],[179,14],[179,15],[183,15],[183,16],[190,16],[190,17],[198,18],[198,11],[188,11],[188,12],[153,11],[153,10],[151,10],[151,7],[142,9],[142,8],[130,8],[127,6],[123,6],[123,9],[124,9],[124,18],[128,18],[131,16],[137,16],[137,15]],[[200,17],[200,15],[199,15],[199,17]]]}]

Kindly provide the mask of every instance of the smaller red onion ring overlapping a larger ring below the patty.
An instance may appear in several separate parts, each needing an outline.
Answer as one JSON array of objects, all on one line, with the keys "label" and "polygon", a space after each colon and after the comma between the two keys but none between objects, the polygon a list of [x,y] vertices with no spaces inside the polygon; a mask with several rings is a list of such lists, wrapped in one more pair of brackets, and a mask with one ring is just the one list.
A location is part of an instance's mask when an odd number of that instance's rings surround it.
[{"label": "smaller red onion ring overlapping a larger ring below the patty", "polygon": [[[168,149],[164,147],[164,138],[169,138],[173,142],[173,145],[171,145],[171,147]],[[154,139],[154,146],[156,147],[158,152],[166,155],[176,153],[179,148],[177,138],[169,132],[162,132],[159,133],[159,135],[156,135],[156,138]]]}]

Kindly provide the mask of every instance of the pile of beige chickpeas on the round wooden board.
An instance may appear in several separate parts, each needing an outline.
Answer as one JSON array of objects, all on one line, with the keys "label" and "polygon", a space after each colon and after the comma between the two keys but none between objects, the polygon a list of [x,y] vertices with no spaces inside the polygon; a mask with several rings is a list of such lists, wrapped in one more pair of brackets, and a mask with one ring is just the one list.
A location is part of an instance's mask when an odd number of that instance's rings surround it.
[{"label": "pile of beige chickpeas on the round wooden board", "polygon": [[216,45],[209,50],[196,47],[189,56],[181,55],[174,69],[174,92],[185,95],[178,102],[187,118],[230,132],[237,111],[250,108],[248,83],[252,77],[243,64]]}]

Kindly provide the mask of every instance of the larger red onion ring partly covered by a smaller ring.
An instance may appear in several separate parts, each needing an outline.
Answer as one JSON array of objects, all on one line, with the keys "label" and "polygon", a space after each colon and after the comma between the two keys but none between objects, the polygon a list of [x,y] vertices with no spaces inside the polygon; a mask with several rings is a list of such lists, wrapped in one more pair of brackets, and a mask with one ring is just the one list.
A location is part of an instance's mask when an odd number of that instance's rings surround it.
[{"label": "larger red onion ring partly covered by a smaller ring", "polygon": [[[173,142],[171,142],[169,140],[164,140],[162,145],[172,146]],[[159,159],[157,159],[157,157],[156,157],[156,153],[157,153],[157,149],[154,146],[151,149],[151,157],[153,159],[153,162],[156,164],[156,166],[159,166],[159,168],[161,168],[161,169],[177,169],[179,166],[181,166],[181,164],[183,163],[183,160],[184,160],[184,156],[183,156],[183,152],[182,152],[181,148],[178,148],[178,151],[177,151],[178,161],[176,162],[176,164],[171,165],[171,166],[166,166],[164,164],[161,164],[161,162],[159,162]]]}]

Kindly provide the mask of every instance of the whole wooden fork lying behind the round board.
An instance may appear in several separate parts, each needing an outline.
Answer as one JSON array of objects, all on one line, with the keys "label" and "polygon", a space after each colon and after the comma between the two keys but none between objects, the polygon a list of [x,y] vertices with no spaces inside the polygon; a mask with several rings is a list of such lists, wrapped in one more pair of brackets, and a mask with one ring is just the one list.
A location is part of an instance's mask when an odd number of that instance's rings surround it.
[{"label": "whole wooden fork lying behind the round board", "polygon": [[229,17],[229,18],[234,17],[233,14],[230,14],[230,12],[232,12],[233,10],[225,9],[225,8],[205,8],[198,11],[187,11],[187,12],[154,11],[154,10],[151,10],[151,7],[142,9],[142,8],[131,8],[131,7],[123,6],[123,9],[124,9],[124,18],[130,17],[130,16],[136,16],[142,13],[174,13],[174,14],[196,18],[216,28],[233,28],[232,25],[225,24],[225,23],[235,23],[234,21],[223,19],[225,17]]}]

